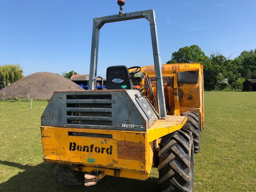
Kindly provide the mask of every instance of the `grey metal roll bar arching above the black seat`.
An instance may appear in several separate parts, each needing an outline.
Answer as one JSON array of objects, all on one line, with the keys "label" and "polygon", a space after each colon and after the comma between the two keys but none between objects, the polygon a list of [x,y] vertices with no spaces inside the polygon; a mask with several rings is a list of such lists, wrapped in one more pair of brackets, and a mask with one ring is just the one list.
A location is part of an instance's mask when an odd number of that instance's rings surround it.
[{"label": "grey metal roll bar arching above the black seat", "polygon": [[157,38],[157,30],[156,30],[156,16],[155,16],[155,11],[153,9],[124,13],[123,15],[119,15],[119,14],[110,15],[110,16],[98,17],[93,19],[89,90],[94,89],[92,84],[95,76],[97,76],[100,28],[105,23],[112,23],[117,21],[140,19],[140,18],[146,18],[149,21],[149,25],[150,25],[154,64],[155,64],[155,74],[156,74],[156,90],[157,90],[159,119],[165,119],[167,118],[167,115],[166,115],[165,100],[164,100],[164,84],[162,79],[162,62],[159,54],[159,46],[158,46],[158,38]]}]

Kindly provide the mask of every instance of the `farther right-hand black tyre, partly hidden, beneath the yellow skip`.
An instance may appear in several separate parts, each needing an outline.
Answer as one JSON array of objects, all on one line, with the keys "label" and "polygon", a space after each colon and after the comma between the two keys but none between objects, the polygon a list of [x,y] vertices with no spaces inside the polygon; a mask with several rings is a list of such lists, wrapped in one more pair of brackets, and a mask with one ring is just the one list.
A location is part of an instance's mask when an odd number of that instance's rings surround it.
[{"label": "farther right-hand black tyre, partly hidden, beneath the yellow skip", "polygon": [[182,115],[187,116],[188,120],[182,129],[186,129],[192,132],[194,152],[198,153],[200,151],[200,120],[199,113],[195,111],[187,111]]}]

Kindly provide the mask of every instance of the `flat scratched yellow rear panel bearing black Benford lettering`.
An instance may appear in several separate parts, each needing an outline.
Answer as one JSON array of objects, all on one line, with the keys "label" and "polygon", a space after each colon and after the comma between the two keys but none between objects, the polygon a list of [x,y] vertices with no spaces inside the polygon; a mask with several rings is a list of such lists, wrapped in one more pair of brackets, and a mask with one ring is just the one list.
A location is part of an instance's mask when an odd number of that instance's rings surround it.
[{"label": "flat scratched yellow rear panel bearing black Benford lettering", "polygon": [[[85,136],[70,132],[85,133]],[[97,134],[111,134],[112,138],[93,136]],[[144,172],[145,135],[145,132],[41,127],[45,161]]]}]

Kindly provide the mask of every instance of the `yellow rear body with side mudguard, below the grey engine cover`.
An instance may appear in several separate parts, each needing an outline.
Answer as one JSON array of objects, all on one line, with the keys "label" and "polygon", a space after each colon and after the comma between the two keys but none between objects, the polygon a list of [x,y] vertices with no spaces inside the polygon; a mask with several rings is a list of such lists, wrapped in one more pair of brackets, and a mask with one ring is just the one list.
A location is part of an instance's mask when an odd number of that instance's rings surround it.
[{"label": "yellow rear body with side mudguard, below the grey engine cover", "polygon": [[[41,126],[44,161],[82,164],[79,171],[98,170],[104,175],[146,180],[153,166],[155,140],[182,128],[186,120],[186,116],[168,116],[157,120],[147,132]],[[112,139],[71,136],[68,132],[108,134]]]}]

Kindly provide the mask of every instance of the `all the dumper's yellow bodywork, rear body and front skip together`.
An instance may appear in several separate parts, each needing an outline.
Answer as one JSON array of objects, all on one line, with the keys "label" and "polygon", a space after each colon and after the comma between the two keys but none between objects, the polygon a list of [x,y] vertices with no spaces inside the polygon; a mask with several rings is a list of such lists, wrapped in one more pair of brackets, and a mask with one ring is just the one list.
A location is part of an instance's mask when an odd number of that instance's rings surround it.
[{"label": "all the dumper's yellow bodywork, rear body and front skip together", "polygon": [[[141,72],[148,75],[156,96],[154,70],[154,66],[141,68]],[[180,71],[198,72],[198,83],[178,83]],[[88,177],[90,172],[99,171],[101,173],[97,180],[104,175],[138,180],[148,179],[155,158],[158,157],[159,138],[182,128],[187,121],[186,116],[181,116],[184,112],[198,112],[201,131],[204,130],[202,65],[199,63],[166,64],[162,66],[162,76],[165,103],[168,109],[166,119],[154,121],[147,132],[41,126],[44,161],[69,166],[76,164],[78,166],[75,166],[74,170],[87,172]],[[144,80],[141,83],[146,86]],[[144,92],[145,96],[148,94],[147,91]],[[148,99],[152,101],[153,98]],[[157,102],[152,104],[156,105]],[[84,136],[75,136],[69,134],[70,132],[84,133]],[[109,137],[104,138],[99,135]]]}]

